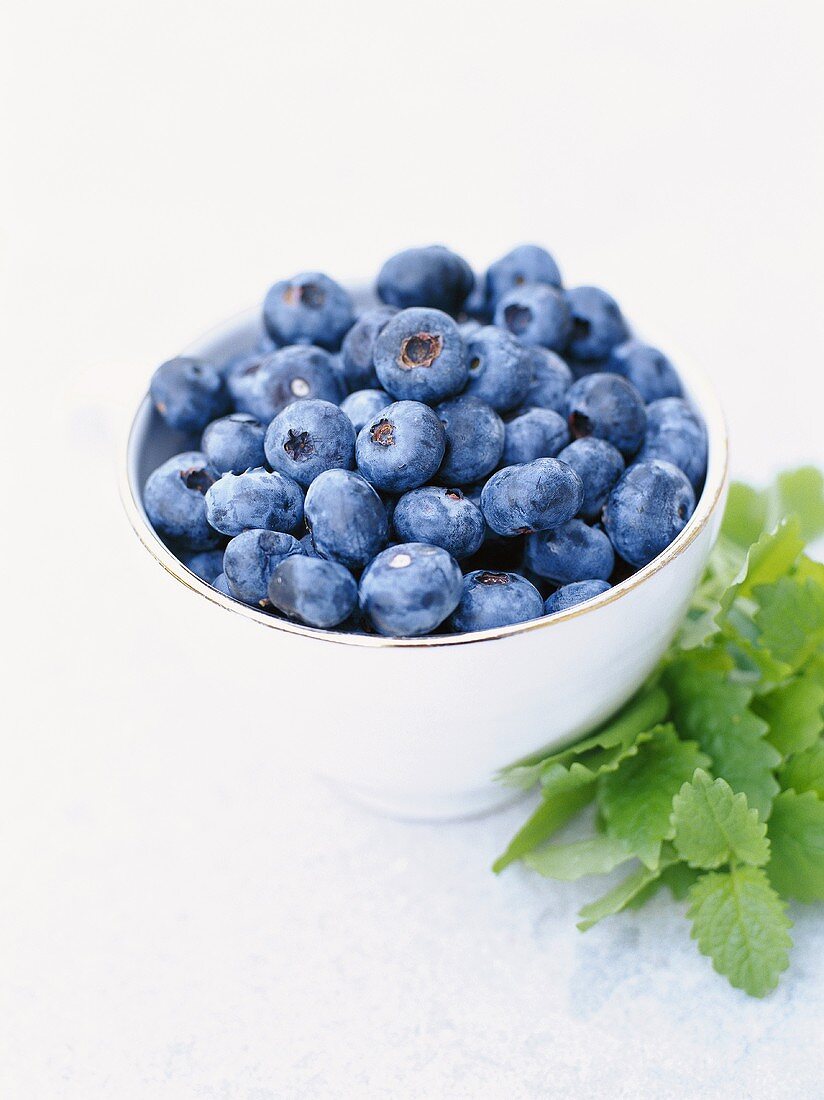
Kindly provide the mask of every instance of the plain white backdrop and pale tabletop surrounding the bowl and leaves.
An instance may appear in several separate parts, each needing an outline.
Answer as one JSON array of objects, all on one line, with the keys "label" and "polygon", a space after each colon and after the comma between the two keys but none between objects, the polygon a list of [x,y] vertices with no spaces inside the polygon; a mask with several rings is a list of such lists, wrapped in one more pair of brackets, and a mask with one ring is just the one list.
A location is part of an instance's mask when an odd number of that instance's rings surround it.
[{"label": "plain white backdrop and pale tabletop surrounding the bowl and leaves", "polygon": [[162,359],[275,278],[431,241],[546,243],[712,373],[739,475],[822,461],[820,13],[7,8],[0,1094],[821,1094],[821,911],[749,1001],[663,898],[584,937],[589,886],[493,877],[523,806],[410,826],[330,794],[277,670],[205,743],[187,700],[231,693],[232,654],[116,491]]}]

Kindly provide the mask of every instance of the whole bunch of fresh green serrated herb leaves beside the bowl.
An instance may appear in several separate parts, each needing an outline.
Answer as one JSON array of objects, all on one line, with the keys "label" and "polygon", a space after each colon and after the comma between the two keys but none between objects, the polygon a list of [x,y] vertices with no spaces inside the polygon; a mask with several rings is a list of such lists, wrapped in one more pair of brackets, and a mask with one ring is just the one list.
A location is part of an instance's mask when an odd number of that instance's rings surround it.
[{"label": "whole bunch of fresh green serrated herb leaves beside the bowl", "polygon": [[[824,901],[824,477],[734,484],[679,636],[648,684],[584,740],[506,768],[541,799],[496,871],[572,880],[627,865],[579,928],[661,887],[688,902],[699,950],[763,997],[789,965],[787,902]],[[593,835],[551,838],[590,803]]]}]

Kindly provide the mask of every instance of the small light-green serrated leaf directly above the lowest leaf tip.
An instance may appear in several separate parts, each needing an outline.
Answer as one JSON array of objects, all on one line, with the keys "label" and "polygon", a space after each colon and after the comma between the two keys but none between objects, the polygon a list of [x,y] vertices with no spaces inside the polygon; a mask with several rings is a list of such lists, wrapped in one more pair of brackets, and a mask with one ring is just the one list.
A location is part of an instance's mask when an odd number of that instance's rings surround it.
[{"label": "small light-green serrated leaf directly above the lowest leaf tip", "polygon": [[770,858],[767,826],[723,779],[699,769],[672,800],[673,846],[690,867],[712,870],[733,860],[758,867]]}]

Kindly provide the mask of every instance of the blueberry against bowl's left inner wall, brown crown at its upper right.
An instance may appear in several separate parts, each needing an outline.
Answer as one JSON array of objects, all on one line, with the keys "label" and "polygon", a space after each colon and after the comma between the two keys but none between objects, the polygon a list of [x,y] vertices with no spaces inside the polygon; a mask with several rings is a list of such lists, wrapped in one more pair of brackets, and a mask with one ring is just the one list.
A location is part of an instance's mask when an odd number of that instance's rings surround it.
[{"label": "blueberry against bowl's left inner wall, brown crown at its upper right", "polygon": [[218,480],[200,451],[168,459],[149,475],[143,504],[158,535],[189,550],[209,550],[217,536],[206,516],[205,494]]}]

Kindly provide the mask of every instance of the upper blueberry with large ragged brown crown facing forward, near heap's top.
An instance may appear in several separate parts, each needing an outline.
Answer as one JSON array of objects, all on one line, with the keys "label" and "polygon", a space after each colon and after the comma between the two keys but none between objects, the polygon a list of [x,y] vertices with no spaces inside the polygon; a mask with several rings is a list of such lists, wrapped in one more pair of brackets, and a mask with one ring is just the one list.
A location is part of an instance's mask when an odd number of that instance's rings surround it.
[{"label": "upper blueberry with large ragged brown crown facing forward, near heap's top", "polygon": [[436,405],[466,384],[458,326],[439,309],[403,309],[375,341],[375,372],[398,400]]}]

